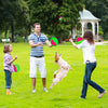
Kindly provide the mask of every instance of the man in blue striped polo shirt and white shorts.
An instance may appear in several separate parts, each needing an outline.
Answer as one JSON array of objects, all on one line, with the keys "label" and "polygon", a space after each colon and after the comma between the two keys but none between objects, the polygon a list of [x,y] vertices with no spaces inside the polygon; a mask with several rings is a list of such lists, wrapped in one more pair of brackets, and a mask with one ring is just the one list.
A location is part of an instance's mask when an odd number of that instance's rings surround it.
[{"label": "man in blue striped polo shirt and white shorts", "polygon": [[36,92],[36,78],[37,78],[37,67],[39,67],[40,76],[42,78],[43,91],[48,92],[45,87],[46,81],[46,70],[45,62],[43,54],[43,44],[44,42],[51,48],[51,43],[48,40],[46,36],[41,33],[41,27],[39,23],[33,24],[35,32],[31,33],[28,38],[29,45],[31,46],[30,51],[30,78],[32,82],[32,93]]}]

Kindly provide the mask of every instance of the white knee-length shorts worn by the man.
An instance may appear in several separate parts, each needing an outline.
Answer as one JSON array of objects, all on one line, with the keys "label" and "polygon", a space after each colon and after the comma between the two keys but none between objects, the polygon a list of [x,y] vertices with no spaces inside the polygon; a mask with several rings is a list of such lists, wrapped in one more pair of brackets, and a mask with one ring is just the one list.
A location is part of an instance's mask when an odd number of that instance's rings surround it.
[{"label": "white knee-length shorts worn by the man", "polygon": [[39,67],[41,78],[45,78],[46,70],[45,70],[44,57],[37,58],[30,56],[30,71],[29,71],[30,78],[37,78],[37,67]]}]

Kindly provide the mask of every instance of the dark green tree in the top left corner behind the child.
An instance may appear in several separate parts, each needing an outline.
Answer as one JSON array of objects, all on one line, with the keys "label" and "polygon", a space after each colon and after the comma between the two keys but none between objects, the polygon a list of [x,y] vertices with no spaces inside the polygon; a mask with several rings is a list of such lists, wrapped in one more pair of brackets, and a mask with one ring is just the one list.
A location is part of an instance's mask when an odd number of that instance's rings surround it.
[{"label": "dark green tree in the top left corner behind the child", "polygon": [[[0,1],[0,30],[11,30],[12,41],[17,29],[27,28],[29,23],[29,9],[24,0],[1,0]],[[15,30],[16,29],[16,30]]]}]

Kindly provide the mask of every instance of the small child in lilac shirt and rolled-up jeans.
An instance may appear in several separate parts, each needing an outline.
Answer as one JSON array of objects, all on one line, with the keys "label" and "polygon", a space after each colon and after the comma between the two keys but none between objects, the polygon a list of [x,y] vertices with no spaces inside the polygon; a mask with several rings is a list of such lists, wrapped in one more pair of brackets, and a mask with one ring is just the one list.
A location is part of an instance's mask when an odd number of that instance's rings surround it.
[{"label": "small child in lilac shirt and rolled-up jeans", "polygon": [[12,45],[11,44],[4,44],[4,72],[5,72],[5,89],[6,89],[6,95],[11,95],[12,93],[10,92],[11,89],[11,84],[12,84],[12,78],[11,78],[11,72],[14,71],[13,69],[13,62],[17,58],[17,56],[15,56],[12,59],[11,53],[12,52]]}]

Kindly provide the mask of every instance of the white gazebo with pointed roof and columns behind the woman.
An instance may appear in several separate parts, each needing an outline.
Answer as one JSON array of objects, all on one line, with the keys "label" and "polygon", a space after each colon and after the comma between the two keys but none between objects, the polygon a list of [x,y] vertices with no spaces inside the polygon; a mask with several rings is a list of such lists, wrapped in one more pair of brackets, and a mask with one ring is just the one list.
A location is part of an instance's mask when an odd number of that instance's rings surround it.
[{"label": "white gazebo with pointed roof and columns behind the woman", "polygon": [[[99,18],[95,17],[90,11],[83,10],[82,12],[79,12],[80,14],[80,23],[82,26],[82,36],[84,31],[87,29],[87,24],[90,23],[92,25],[92,31],[94,35],[94,39],[98,40],[98,22]],[[96,31],[96,32],[95,32]],[[72,37],[75,38],[77,36],[77,27],[72,29]]]}]

